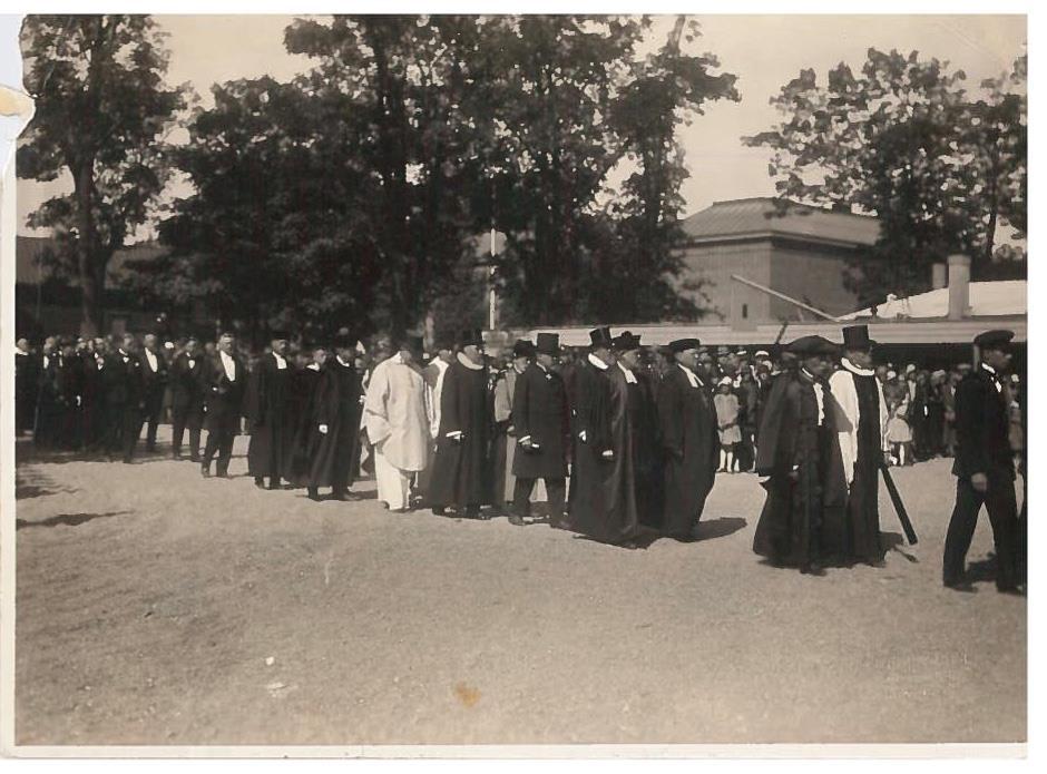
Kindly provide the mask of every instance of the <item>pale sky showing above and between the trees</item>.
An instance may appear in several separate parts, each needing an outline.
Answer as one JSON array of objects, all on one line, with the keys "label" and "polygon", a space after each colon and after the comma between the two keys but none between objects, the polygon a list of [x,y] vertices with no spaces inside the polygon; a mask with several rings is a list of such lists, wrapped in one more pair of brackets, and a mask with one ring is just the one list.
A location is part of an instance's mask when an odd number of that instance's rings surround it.
[{"label": "pale sky showing above and between the trees", "polygon": [[[309,60],[283,47],[288,16],[157,16],[169,33],[172,84],[189,82],[211,105],[212,84],[271,75],[290,79]],[[685,214],[713,202],[770,196],[770,153],[747,148],[741,138],[769,129],[777,114],[769,100],[801,69],[820,77],[841,61],[859,69],[869,48],[917,50],[967,72],[968,88],[1009,70],[1025,50],[1024,16],[705,16],[696,17],[703,37],[696,50],[720,59],[721,69],[738,76],[741,102],[712,104],[691,126],[681,127],[691,177],[683,185]],[[649,46],[657,47],[672,27],[671,17],[656,21]],[[235,41],[235,45],[231,45]],[[67,180],[18,182],[20,234],[32,233],[26,216],[48,197],[62,193]],[[179,190],[174,190],[178,195]]]}]

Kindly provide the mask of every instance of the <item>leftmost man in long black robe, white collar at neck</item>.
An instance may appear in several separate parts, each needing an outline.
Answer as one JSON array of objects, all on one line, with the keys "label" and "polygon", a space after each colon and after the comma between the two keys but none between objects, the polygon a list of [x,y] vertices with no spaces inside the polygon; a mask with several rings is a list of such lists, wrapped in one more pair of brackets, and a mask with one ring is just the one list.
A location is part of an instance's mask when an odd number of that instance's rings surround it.
[{"label": "leftmost man in long black robe, white collar at neck", "polygon": [[251,444],[247,447],[247,474],[258,488],[280,489],[281,473],[291,455],[294,433],[288,425],[287,335],[273,333],[272,352],[262,355],[251,374]]}]

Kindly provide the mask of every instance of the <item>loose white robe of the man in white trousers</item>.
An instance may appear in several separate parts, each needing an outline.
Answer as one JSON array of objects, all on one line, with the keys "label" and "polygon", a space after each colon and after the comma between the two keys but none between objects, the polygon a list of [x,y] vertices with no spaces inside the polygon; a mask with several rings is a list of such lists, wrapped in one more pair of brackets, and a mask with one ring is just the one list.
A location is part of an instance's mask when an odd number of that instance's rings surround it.
[{"label": "loose white robe of the man in white trousers", "polygon": [[[401,471],[417,472],[429,464],[431,437],[425,411],[425,381],[397,354],[375,366],[363,404],[368,438]],[[382,499],[379,492],[379,499]]]}]

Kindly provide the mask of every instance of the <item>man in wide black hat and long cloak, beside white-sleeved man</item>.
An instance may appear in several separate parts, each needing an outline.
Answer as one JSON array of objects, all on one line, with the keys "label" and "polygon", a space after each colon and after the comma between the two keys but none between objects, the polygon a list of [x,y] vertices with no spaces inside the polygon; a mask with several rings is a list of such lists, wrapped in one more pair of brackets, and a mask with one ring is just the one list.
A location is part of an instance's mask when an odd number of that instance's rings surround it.
[{"label": "man in wide black hat and long cloak, beside white-sleeved man", "polygon": [[836,346],[822,336],[803,336],[786,351],[798,359],[799,368],[774,380],[760,429],[756,473],[769,477],[763,483],[767,499],[753,551],[774,564],[820,575],[825,503],[847,499],[843,467],[833,463],[833,449],[839,447],[826,400],[825,378]]}]

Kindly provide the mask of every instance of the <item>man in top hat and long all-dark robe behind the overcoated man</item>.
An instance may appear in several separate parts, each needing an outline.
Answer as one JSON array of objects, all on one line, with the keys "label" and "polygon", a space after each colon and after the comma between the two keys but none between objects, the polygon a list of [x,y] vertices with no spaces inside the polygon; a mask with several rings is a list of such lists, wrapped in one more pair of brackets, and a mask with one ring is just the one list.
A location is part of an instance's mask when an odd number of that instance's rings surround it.
[{"label": "man in top hat and long all-dark robe behind the overcoated man", "polygon": [[639,527],[633,473],[628,386],[610,329],[589,332],[575,368],[570,528],[600,542],[635,548]]}]

